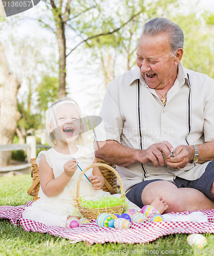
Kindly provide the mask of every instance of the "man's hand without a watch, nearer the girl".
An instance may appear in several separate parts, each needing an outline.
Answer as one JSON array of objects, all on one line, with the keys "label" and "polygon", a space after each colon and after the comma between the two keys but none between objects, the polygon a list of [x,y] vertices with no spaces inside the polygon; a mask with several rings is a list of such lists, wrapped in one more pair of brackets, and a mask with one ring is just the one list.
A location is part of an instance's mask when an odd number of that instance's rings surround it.
[{"label": "man's hand without a watch, nearer the girl", "polygon": [[[139,153],[139,162],[150,163],[152,162],[155,167],[164,164],[164,156],[169,160],[171,157],[171,152],[173,151],[173,146],[168,141],[162,141],[159,143],[152,144],[145,151]],[[158,164],[159,162],[159,164]]]}]

